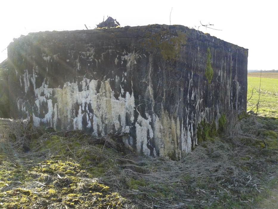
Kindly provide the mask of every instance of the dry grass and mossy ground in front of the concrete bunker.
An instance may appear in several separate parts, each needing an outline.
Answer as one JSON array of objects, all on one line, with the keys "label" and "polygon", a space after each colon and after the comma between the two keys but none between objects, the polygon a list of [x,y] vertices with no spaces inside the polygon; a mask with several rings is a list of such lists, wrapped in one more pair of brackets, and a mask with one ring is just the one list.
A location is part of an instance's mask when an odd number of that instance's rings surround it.
[{"label": "dry grass and mossy ground in front of the concrete bunker", "polygon": [[[268,179],[278,177],[278,120],[246,116],[235,122],[240,128],[229,137],[203,142],[180,161],[91,145],[91,136],[81,132],[44,132],[16,158],[8,159],[10,148],[2,147],[0,167],[7,172],[0,179],[0,202],[13,204],[20,197],[26,208],[252,208],[262,200]],[[18,140],[25,140],[23,133]],[[14,179],[16,172],[21,181]],[[67,190],[62,180],[69,181]],[[89,193],[94,182],[101,195]],[[49,196],[49,189],[56,196]]]}]

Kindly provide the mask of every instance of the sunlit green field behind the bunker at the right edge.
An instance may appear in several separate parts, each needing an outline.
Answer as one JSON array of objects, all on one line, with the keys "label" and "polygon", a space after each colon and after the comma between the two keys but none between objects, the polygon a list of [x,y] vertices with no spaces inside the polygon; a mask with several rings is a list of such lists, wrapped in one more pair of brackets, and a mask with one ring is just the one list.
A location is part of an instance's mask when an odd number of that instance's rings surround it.
[{"label": "sunlit green field behind the bunker at the right edge", "polygon": [[[250,73],[251,74],[251,73]],[[261,87],[260,78],[248,76],[248,92],[247,100],[252,95],[251,99],[247,102],[247,111],[251,110],[257,105],[259,100],[259,87],[260,87],[260,102],[258,115],[278,117],[278,79],[264,78],[262,73]],[[253,109],[256,113],[256,107]]]}]

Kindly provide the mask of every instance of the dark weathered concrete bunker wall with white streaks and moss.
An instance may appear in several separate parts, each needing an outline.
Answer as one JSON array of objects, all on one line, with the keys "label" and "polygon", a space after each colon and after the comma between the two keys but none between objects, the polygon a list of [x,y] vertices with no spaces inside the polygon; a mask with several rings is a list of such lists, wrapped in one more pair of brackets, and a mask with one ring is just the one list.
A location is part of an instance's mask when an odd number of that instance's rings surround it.
[{"label": "dark weathered concrete bunker wall with white streaks and moss", "polygon": [[202,120],[246,111],[247,57],[180,25],[30,33],[8,47],[11,115],[178,158]]}]

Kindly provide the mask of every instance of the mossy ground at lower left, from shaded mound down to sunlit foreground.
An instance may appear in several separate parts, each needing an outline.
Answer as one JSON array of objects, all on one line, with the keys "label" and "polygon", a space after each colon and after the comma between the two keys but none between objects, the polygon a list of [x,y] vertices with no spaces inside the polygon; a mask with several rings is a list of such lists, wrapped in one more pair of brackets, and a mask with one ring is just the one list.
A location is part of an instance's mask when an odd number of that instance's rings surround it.
[{"label": "mossy ground at lower left, from shaded mound down to sunlit foreground", "polygon": [[80,134],[70,137],[46,134],[31,143],[36,153],[24,159],[2,153],[1,208],[32,205],[33,208],[106,209],[128,204],[119,193],[96,179],[111,169],[112,162],[101,159],[103,147],[92,146],[89,151],[88,141],[79,139]]}]

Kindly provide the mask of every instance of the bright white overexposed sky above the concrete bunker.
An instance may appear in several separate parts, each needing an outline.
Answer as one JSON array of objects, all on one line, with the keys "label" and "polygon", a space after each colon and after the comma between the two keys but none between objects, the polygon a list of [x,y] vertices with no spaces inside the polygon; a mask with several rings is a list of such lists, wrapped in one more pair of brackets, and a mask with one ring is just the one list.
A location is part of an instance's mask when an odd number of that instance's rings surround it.
[{"label": "bright white overexposed sky above the concrete bunker", "polygon": [[121,26],[181,24],[200,27],[224,41],[249,49],[248,70],[278,70],[277,6],[275,1],[2,1],[0,62],[13,38],[38,31],[94,29],[107,16]]}]

